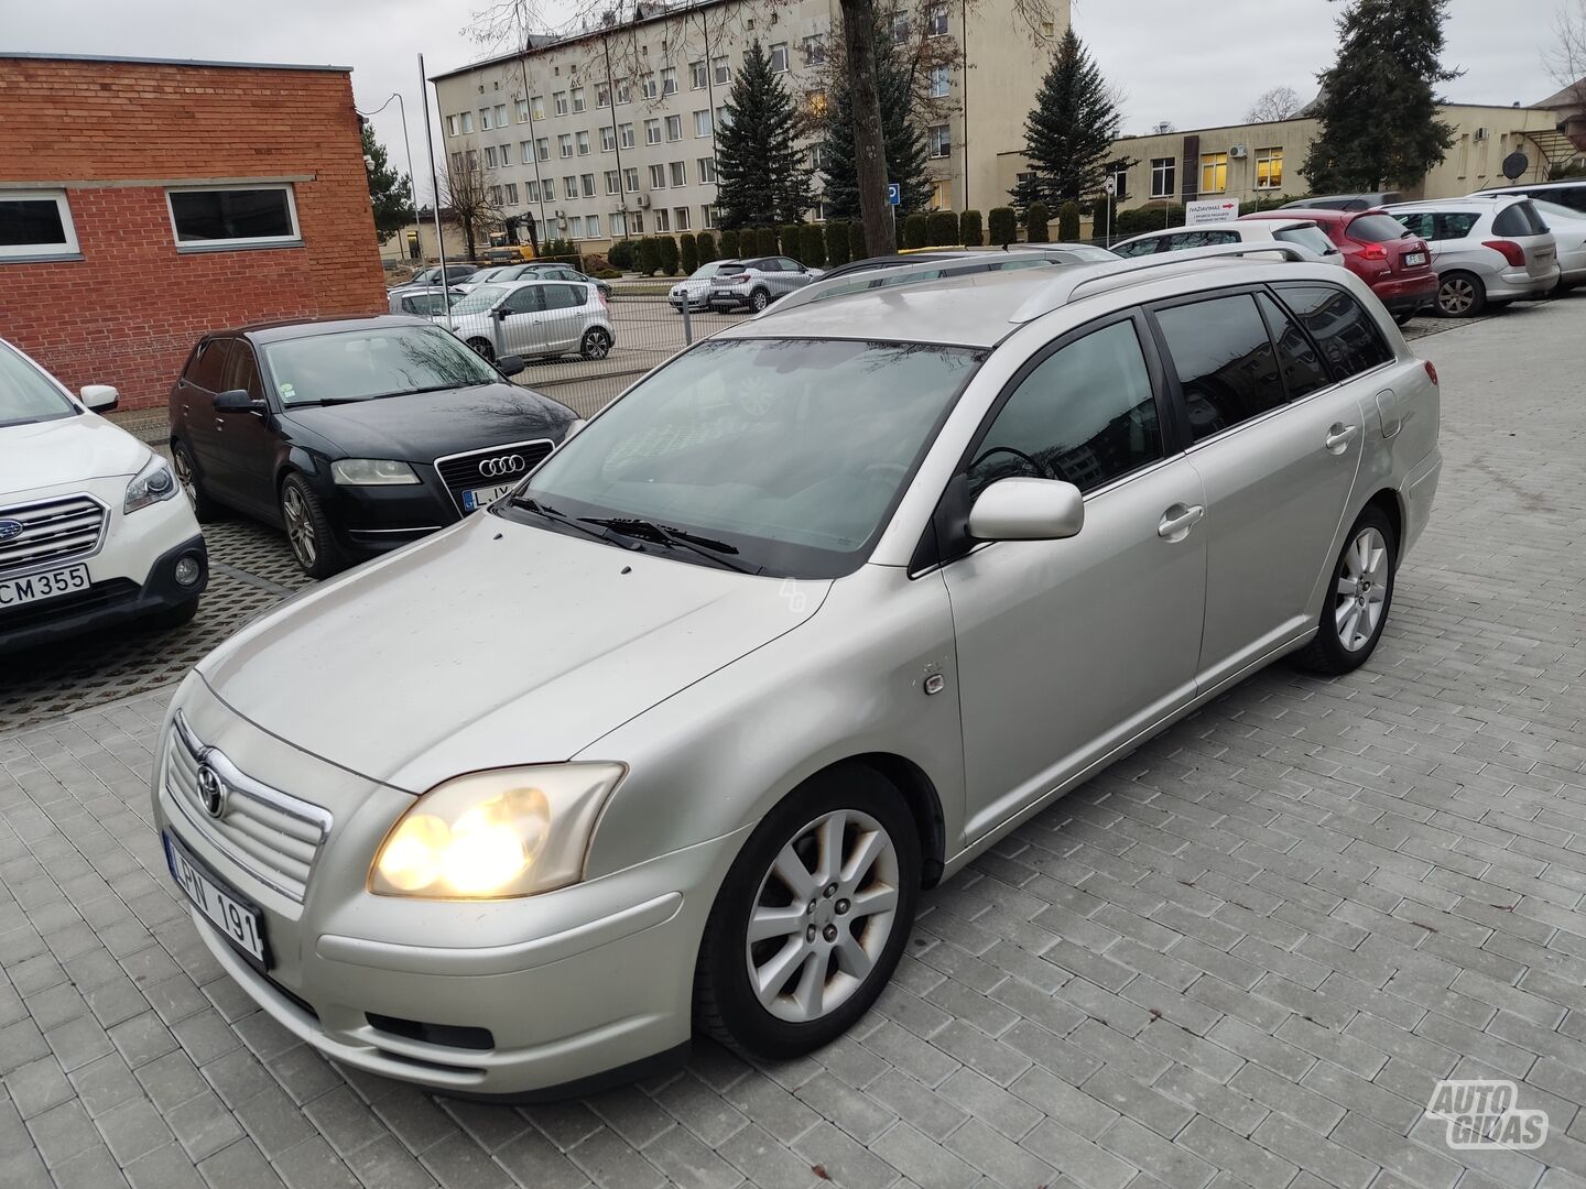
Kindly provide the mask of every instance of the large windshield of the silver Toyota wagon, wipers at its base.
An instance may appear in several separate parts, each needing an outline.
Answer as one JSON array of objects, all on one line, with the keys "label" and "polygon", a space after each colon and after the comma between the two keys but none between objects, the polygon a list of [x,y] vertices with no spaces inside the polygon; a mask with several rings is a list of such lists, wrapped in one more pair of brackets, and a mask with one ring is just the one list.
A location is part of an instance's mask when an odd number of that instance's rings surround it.
[{"label": "large windshield of the silver Toyota wagon, wipers at its base", "polygon": [[718,539],[750,571],[837,577],[864,560],[983,358],[909,342],[712,339],[641,380],[519,496],[565,517]]}]

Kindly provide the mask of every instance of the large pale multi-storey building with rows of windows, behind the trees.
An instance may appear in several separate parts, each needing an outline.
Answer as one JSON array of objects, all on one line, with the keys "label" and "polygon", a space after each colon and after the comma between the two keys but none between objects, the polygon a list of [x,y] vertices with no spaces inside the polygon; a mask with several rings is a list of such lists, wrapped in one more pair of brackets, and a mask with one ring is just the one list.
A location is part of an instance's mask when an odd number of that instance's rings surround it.
[{"label": "large pale multi-storey building with rows of windows, behind the trees", "polygon": [[[934,206],[1006,203],[998,157],[1023,144],[1025,116],[1067,27],[1069,0],[1048,8],[1052,19],[1029,29],[1009,0],[901,0],[893,36],[904,52],[956,59],[928,71],[917,113]],[[476,160],[492,205],[533,214],[541,241],[603,250],[623,235],[715,230],[715,128],[749,46],[758,40],[795,101],[820,113],[842,60],[837,13],[837,0],[641,3],[631,21],[536,36],[527,52],[431,76],[438,147],[454,170]],[[814,143],[809,151],[818,165]],[[810,217],[823,219],[823,208]]]}]

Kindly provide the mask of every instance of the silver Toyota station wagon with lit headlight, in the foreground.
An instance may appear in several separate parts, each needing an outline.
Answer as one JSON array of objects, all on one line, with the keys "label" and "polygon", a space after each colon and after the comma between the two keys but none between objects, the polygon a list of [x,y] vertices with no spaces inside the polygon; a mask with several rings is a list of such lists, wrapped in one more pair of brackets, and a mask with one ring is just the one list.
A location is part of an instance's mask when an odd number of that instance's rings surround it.
[{"label": "silver Toyota station wagon with lit headlight, in the foreground", "polygon": [[255,620],[157,756],[208,946],[454,1094],[829,1042],[921,888],[1274,658],[1377,645],[1437,376],[1343,270],[1245,250],[817,282]]}]

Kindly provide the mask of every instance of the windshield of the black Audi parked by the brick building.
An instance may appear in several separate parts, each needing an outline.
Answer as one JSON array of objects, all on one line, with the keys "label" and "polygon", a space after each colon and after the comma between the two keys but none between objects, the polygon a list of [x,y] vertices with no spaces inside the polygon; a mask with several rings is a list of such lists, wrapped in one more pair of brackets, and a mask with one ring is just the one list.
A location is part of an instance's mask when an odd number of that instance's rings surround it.
[{"label": "windshield of the black Audi parked by the brick building", "polygon": [[[452,306],[457,309],[457,306]],[[362,401],[496,384],[501,376],[439,327],[382,327],[263,347],[281,404]]]}]

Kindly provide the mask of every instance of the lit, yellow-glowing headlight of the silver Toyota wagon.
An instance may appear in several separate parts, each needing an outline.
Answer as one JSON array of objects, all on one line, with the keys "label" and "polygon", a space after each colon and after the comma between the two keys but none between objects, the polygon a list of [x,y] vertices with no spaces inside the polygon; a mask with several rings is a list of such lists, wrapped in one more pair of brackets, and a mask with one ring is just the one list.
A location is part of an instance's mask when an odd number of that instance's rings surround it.
[{"label": "lit, yellow-glowing headlight of the silver Toyota wagon", "polygon": [[425,900],[503,899],[565,888],[622,764],[538,764],[436,785],[385,835],[370,891]]}]

